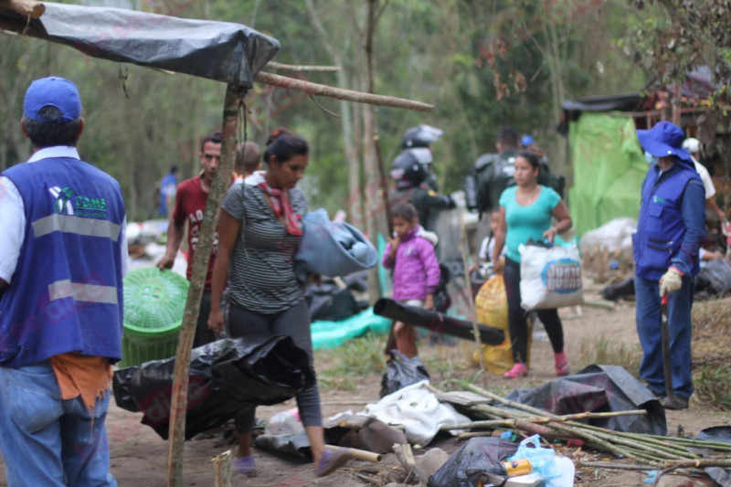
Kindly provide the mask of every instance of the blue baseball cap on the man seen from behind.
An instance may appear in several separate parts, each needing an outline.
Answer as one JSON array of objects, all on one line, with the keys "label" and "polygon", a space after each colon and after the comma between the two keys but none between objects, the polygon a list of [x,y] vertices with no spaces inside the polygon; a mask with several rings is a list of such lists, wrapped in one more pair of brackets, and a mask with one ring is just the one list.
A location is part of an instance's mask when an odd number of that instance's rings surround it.
[{"label": "blue baseball cap on the man seen from behind", "polygon": [[[49,119],[38,112],[47,106],[58,108],[61,116]],[[23,113],[30,120],[47,123],[69,123],[81,116],[81,97],[76,85],[63,78],[36,79],[26,91]]]}]

